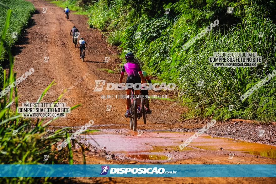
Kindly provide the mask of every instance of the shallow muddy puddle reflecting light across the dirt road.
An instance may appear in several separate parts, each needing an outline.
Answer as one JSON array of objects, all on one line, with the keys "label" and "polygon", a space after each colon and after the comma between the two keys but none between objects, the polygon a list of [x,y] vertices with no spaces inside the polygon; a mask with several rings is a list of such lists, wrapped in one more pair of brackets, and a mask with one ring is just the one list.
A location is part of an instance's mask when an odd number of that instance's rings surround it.
[{"label": "shallow muddy puddle reflecting light across the dirt road", "polygon": [[211,137],[210,135],[202,134],[197,139],[193,139],[188,147],[180,150],[179,145],[194,133],[164,131],[144,131],[138,133],[128,130],[123,130],[123,132],[124,134],[95,132],[81,136],[86,143],[89,142],[99,149],[104,148],[104,150],[114,154],[124,155],[125,157],[137,160],[171,160],[173,154],[184,155],[187,151],[193,150],[224,150],[229,151],[229,153],[241,152],[276,158],[276,146],[272,145]]}]

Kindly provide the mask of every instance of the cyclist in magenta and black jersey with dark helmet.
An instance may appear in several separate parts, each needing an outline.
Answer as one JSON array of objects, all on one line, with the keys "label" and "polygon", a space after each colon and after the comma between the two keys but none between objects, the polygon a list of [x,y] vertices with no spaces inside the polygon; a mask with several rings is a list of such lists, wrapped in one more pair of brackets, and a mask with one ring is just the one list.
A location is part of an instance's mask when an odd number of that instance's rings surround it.
[{"label": "cyclist in magenta and black jersey with dark helmet", "polygon": [[[122,68],[119,83],[122,83],[125,72],[127,73],[126,83],[132,83],[133,85],[135,83],[141,83],[141,81],[142,83],[144,83],[144,77],[141,71],[141,67],[139,65],[138,60],[134,59],[134,54],[132,52],[126,53],[125,59],[127,63],[125,63]],[[132,88],[128,88],[127,85],[125,87],[126,87],[126,95],[127,97],[129,97],[131,94]],[[138,86],[136,86],[136,88],[138,88]],[[135,90],[135,95],[140,95],[140,89]],[[137,98],[136,100],[137,100],[137,111],[138,111],[137,113],[141,113],[141,99]],[[130,108],[130,98],[126,98],[126,113],[125,113],[126,118],[130,116],[129,108]]]}]

